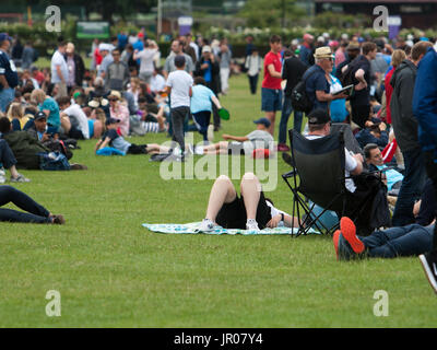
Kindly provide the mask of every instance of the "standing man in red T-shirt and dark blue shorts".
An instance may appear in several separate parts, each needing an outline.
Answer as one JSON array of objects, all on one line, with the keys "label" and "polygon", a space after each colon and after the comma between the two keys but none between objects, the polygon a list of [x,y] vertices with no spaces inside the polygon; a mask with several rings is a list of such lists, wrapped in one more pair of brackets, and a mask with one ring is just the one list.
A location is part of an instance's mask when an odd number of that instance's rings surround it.
[{"label": "standing man in red T-shirt and dark blue shorts", "polygon": [[264,79],[261,85],[261,110],[270,120],[269,132],[273,136],[276,110],[282,109],[282,42],[277,35],[270,37],[270,51],[264,57]]}]

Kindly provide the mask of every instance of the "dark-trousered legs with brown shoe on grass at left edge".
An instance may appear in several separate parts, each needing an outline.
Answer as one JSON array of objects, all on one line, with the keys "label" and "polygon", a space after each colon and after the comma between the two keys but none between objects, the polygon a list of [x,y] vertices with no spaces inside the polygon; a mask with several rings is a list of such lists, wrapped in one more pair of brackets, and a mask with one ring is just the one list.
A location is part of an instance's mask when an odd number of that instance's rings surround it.
[{"label": "dark-trousered legs with brown shoe on grass at left edge", "polygon": [[29,196],[12,186],[0,186],[0,207],[14,203],[25,212],[0,208],[0,221],[22,223],[50,223],[64,224],[66,219],[61,214],[52,214]]}]

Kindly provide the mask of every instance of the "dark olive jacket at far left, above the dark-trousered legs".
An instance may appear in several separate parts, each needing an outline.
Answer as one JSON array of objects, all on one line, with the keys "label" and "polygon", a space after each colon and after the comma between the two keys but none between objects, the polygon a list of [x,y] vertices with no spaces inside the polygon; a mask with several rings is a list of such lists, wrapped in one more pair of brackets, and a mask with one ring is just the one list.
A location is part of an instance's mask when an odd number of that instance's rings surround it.
[{"label": "dark olive jacket at far left, above the dark-trousered legs", "polygon": [[3,133],[3,139],[15,155],[17,168],[39,170],[38,153],[50,151],[27,131],[10,131]]}]

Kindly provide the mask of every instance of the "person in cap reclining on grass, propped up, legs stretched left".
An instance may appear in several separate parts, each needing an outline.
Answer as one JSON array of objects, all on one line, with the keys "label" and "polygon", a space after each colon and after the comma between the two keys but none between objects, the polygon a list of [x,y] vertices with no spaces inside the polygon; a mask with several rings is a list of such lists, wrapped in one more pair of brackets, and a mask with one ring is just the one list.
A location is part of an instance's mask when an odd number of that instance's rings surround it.
[{"label": "person in cap reclining on grass, propped up, legs stretched left", "polygon": [[[226,141],[220,141],[194,149],[196,154],[252,154],[256,149],[271,150],[273,149],[273,137],[268,131],[270,120],[260,118],[253,121],[257,129],[247,136],[232,136],[223,133],[222,137]],[[229,142],[229,141],[231,142]]]}]

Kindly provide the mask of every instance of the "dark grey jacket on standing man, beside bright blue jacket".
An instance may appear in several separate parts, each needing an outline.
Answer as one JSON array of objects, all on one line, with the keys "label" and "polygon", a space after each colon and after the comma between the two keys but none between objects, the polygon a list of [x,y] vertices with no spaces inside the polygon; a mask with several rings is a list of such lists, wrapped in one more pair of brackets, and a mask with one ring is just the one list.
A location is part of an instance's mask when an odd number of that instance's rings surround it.
[{"label": "dark grey jacket on standing man, beside bright blue jacket", "polygon": [[417,139],[418,124],[413,115],[416,72],[416,66],[405,59],[399,65],[390,80],[390,84],[393,86],[390,102],[391,122],[397,142],[402,152],[420,147]]}]

